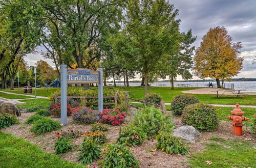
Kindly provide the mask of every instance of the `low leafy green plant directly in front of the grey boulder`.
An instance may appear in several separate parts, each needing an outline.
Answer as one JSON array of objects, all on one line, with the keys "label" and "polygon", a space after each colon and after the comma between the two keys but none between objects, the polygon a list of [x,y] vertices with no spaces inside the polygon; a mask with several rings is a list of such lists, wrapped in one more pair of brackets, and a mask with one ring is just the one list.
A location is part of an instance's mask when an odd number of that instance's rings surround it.
[{"label": "low leafy green plant directly in front of the grey boulder", "polygon": [[172,136],[170,133],[161,132],[156,136],[157,145],[156,148],[160,151],[164,151],[168,154],[188,154],[188,147],[185,143],[182,143],[176,136]]}]

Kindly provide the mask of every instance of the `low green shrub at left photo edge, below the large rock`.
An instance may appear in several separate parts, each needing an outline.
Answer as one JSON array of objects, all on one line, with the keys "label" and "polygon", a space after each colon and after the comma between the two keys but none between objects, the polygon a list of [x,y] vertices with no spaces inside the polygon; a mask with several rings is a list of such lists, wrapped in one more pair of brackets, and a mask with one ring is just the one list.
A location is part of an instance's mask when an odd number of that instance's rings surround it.
[{"label": "low green shrub at left photo edge, below the large rock", "polygon": [[9,114],[0,115],[0,128],[5,129],[6,127],[10,127],[18,123],[19,123],[19,120],[16,116],[9,115]]}]

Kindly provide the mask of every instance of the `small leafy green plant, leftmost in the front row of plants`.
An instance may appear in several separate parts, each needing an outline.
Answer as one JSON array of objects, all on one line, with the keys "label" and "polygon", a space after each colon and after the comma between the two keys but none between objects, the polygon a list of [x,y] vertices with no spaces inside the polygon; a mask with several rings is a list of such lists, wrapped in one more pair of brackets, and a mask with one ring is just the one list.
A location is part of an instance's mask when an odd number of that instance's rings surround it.
[{"label": "small leafy green plant, leftmost in the front row of plants", "polygon": [[67,153],[73,149],[72,139],[68,137],[59,136],[55,141],[54,149],[56,154]]}]

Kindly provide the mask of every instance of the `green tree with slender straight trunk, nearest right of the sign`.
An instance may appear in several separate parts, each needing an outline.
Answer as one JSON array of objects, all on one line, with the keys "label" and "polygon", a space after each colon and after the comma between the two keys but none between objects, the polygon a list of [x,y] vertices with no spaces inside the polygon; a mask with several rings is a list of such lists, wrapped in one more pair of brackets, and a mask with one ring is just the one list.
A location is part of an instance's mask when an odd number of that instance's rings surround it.
[{"label": "green tree with slender straight trunk, nearest right of the sign", "polygon": [[137,70],[145,81],[147,95],[148,77],[161,69],[166,52],[165,36],[170,27],[177,26],[178,10],[164,0],[131,0],[127,8],[125,30],[132,39],[136,51]]}]

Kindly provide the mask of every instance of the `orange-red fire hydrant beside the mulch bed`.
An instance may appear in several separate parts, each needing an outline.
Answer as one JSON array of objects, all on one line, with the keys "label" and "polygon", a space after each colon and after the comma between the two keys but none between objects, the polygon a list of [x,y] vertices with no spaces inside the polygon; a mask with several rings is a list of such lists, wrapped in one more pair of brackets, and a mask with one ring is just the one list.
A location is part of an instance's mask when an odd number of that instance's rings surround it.
[{"label": "orange-red fire hydrant beside the mulch bed", "polygon": [[228,116],[227,119],[232,120],[233,134],[241,136],[243,134],[243,121],[249,120],[244,117],[244,111],[239,108],[239,104],[231,111],[232,116]]}]

